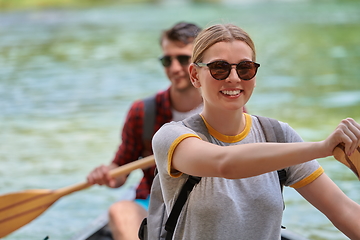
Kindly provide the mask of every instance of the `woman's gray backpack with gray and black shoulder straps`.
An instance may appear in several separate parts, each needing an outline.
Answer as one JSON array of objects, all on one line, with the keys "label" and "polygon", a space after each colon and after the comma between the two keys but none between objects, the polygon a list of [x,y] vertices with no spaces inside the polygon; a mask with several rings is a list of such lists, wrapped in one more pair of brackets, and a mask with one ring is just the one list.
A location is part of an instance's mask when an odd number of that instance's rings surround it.
[{"label": "woman's gray backpack with gray and black shoulder straps", "polygon": [[[285,142],[283,130],[277,120],[261,116],[256,117],[259,119],[267,142]],[[185,121],[183,121],[183,123],[187,126]],[[206,136],[201,137],[203,140],[207,140]],[[285,169],[278,170],[278,176],[282,192],[286,181]],[[190,192],[200,180],[201,177],[189,176],[174,203],[169,217],[167,217],[159,176],[156,174],[151,186],[148,217],[143,220],[139,229],[138,235],[140,240],[171,240],[181,210],[186,203]]]}]

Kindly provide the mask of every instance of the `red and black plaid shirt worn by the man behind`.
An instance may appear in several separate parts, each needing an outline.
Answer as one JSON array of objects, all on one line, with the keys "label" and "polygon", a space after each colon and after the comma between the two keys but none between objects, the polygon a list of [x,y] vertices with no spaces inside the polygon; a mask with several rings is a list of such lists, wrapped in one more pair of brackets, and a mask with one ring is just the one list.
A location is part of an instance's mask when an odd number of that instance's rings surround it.
[{"label": "red and black plaid shirt worn by the man behind", "polygon": [[[156,94],[154,133],[159,130],[163,124],[170,122],[171,119],[170,90],[168,89]],[[132,104],[127,114],[121,134],[122,143],[116,152],[113,163],[121,166],[152,154],[151,148],[147,149],[142,139],[143,120],[144,102],[138,100]],[[144,177],[136,189],[137,199],[146,199],[150,194],[151,184],[154,179],[154,170],[155,167],[143,170]]]}]

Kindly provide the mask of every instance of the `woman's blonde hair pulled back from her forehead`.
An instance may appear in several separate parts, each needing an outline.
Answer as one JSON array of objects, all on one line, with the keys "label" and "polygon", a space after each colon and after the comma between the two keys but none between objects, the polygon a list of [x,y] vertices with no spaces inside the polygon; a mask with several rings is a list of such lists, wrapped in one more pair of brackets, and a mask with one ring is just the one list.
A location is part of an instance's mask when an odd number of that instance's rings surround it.
[{"label": "woman's blonde hair pulled back from her forehead", "polygon": [[247,32],[233,24],[216,24],[202,30],[195,38],[192,62],[203,61],[204,52],[215,43],[234,40],[240,40],[249,45],[253,51],[252,60],[256,61],[255,45]]}]

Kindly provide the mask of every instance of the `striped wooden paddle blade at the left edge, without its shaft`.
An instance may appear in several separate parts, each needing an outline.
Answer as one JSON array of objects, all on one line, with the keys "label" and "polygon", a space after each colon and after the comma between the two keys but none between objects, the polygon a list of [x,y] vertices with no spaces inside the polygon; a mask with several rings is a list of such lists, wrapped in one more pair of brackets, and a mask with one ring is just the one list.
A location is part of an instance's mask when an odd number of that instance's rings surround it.
[{"label": "striped wooden paddle blade at the left edge, without its shaft", "polygon": [[0,196],[0,238],[34,220],[59,196],[51,190],[27,190]]}]

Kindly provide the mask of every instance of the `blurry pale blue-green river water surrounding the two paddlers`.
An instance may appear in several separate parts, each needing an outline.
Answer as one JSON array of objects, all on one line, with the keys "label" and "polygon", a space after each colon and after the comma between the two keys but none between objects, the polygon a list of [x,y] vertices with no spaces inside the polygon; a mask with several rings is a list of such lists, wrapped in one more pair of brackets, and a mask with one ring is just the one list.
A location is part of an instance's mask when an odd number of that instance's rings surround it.
[{"label": "blurry pale blue-green river water surrounding the two paddlers", "polygon": [[[0,15],[0,194],[69,186],[109,162],[129,104],[168,86],[158,37],[181,20],[232,22],[253,36],[261,68],[251,113],[289,122],[308,141],[326,137],[341,118],[360,121],[356,1],[165,1],[6,12]],[[320,163],[360,202],[350,170],[332,158]],[[92,187],[66,196],[5,239],[67,239],[120,194]],[[311,239],[346,239],[294,190],[286,189],[285,198],[289,229]]]}]

